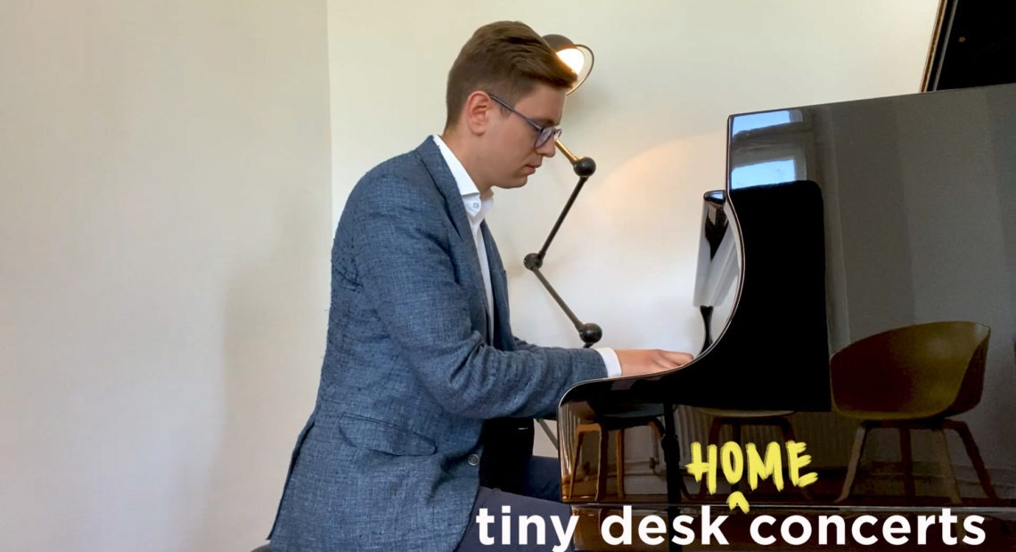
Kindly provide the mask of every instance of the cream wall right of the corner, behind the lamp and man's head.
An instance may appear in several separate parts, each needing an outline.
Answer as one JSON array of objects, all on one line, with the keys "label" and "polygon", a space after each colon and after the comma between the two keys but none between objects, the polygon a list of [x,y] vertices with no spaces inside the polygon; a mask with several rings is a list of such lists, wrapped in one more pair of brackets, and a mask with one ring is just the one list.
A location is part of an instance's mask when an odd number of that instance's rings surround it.
[{"label": "cream wall right of the corner, behind the lamp and man's head", "polygon": [[[602,345],[696,351],[701,195],[724,186],[726,117],[917,91],[937,7],[445,0],[393,10],[331,0],[333,216],[364,171],[440,132],[448,69],[478,26],[517,19],[565,34],[596,62],[568,99],[562,138],[598,168],[544,272],[580,318],[604,327]],[[491,214],[514,329],[548,345],[581,342],[521,260],[539,249],[575,181],[556,159],[522,191],[497,193]]]}]

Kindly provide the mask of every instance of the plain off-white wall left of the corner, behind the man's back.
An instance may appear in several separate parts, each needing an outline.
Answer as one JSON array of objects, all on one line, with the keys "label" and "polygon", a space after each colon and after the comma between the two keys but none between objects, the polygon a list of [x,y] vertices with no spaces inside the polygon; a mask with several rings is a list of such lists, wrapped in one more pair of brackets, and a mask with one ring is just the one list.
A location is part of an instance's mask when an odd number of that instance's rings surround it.
[{"label": "plain off-white wall left of the corner, behind the man's back", "polygon": [[0,4],[0,549],[249,550],[324,344],[326,4]]}]

